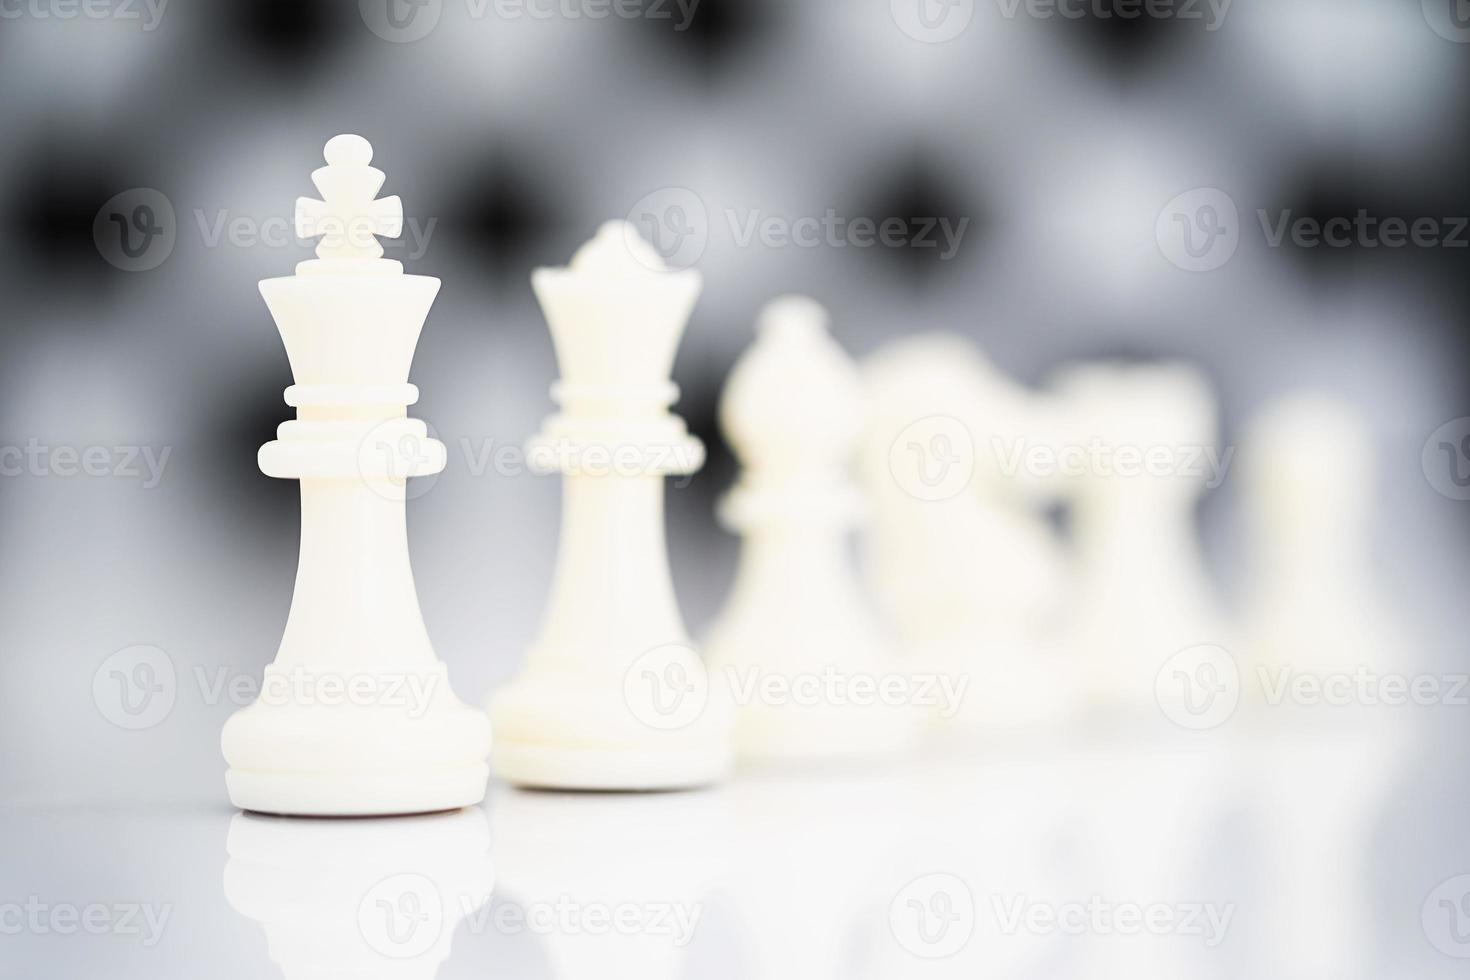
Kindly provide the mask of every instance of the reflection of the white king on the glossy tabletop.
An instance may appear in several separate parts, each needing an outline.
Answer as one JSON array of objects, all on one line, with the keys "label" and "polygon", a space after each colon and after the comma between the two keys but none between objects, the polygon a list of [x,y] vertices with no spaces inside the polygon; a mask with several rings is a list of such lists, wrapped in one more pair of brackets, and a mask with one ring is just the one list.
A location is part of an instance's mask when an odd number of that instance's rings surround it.
[{"label": "reflection of the white king on the glossy tabletop", "polygon": [[237,814],[228,846],[225,898],[265,927],[288,980],[429,980],[495,884],[481,810],[332,823]]}]

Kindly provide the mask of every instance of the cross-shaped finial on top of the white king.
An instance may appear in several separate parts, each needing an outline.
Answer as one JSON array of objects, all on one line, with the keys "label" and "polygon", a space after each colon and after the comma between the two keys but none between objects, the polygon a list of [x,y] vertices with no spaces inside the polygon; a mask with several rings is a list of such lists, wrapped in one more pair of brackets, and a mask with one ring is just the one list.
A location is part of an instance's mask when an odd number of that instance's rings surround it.
[{"label": "cross-shaped finial on top of the white king", "polygon": [[[340,263],[356,266],[381,260],[382,245],[378,238],[397,238],[403,234],[403,201],[397,195],[378,200],[385,175],[370,166],[372,144],[362,137],[344,134],[328,140],[322,156],[326,166],[312,173],[312,182],[322,198],[297,198],[297,238],[320,238],[316,245],[316,257],[320,260],[316,270],[320,272],[332,270]],[[394,270],[401,270],[398,263],[391,264],[395,266]]]}]

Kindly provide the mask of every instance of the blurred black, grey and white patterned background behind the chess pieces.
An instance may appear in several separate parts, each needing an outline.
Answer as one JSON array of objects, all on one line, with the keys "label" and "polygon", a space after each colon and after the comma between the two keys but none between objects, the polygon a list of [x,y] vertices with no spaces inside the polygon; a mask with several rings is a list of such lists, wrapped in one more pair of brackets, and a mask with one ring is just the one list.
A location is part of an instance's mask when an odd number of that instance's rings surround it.
[{"label": "blurred black, grey and white patterned background behind the chess pieces", "polygon": [[[218,730],[235,705],[209,702],[197,677],[259,676],[272,658],[298,530],[297,486],[256,469],[291,383],[256,282],[310,248],[254,235],[315,192],[338,132],[373,143],[384,194],[429,232],[390,257],[444,281],[412,379],[450,464],[409,514],[425,620],[469,701],[523,655],[556,545],[557,480],[470,458],[520,445],[551,408],[529,272],[564,263],[604,219],[667,219],[669,200],[695,200],[706,237],[676,381],[711,457],[669,504],[697,633],[736,547],[713,519],[734,479],[719,388],[757,309],[806,292],[858,357],[945,329],[1028,383],[1079,357],[1194,360],[1219,388],[1226,442],[1301,385],[1354,401],[1383,447],[1385,588],[1424,664],[1466,666],[1470,504],[1438,492],[1420,457],[1470,414],[1470,232],[1458,247],[1273,247],[1258,219],[1366,209],[1454,235],[1470,215],[1463,3],[1235,0],[1191,6],[1198,19],[1008,0],[647,0],[610,16],[595,0],[0,7],[0,445],[104,447],[115,470],[128,447],[169,453],[156,486],[141,461],[138,478],[0,479],[10,801],[223,796]],[[1155,235],[1197,188],[1238,207],[1238,248],[1207,272]],[[153,223],[129,256],[109,215],[143,220],[140,203]],[[963,235],[947,254],[739,234],[754,216],[828,212],[963,222]],[[1201,519],[1236,591],[1233,483]],[[135,645],[166,651],[178,698],[166,723],[118,738],[93,674]],[[1444,757],[1404,774],[1404,799],[1448,830],[1470,724],[1464,708],[1433,724]],[[1458,846],[1451,864],[1470,865],[1464,843],[1433,836],[1404,846],[1441,860]]]}]

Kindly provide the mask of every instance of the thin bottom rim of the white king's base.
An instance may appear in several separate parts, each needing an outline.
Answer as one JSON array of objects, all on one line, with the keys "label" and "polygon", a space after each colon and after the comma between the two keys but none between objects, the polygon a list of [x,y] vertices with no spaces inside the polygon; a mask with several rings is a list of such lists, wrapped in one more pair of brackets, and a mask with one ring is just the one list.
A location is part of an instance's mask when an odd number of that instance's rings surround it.
[{"label": "thin bottom rim of the white king's base", "polygon": [[225,773],[229,802],[291,817],[390,817],[473,807],[485,798],[490,765],[398,771]]}]

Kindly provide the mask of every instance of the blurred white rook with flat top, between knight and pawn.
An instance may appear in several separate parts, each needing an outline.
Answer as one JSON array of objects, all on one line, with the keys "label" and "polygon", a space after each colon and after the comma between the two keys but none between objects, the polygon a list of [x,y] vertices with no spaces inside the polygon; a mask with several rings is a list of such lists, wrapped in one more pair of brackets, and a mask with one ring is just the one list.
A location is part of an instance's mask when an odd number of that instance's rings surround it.
[{"label": "blurred white rook with flat top, between knight and pawn", "polygon": [[1179,654],[1185,683],[1205,685],[1198,698],[1183,692],[1182,710],[1204,718],[1225,704],[1219,695],[1236,692],[1213,664],[1197,677],[1186,652],[1230,649],[1194,513],[1229,463],[1208,382],[1185,364],[1098,363],[1064,369],[1054,391],[1070,429],[1058,470],[1072,478],[1079,574],[1067,645],[1086,671],[1091,707],[1160,717],[1155,680]]}]

